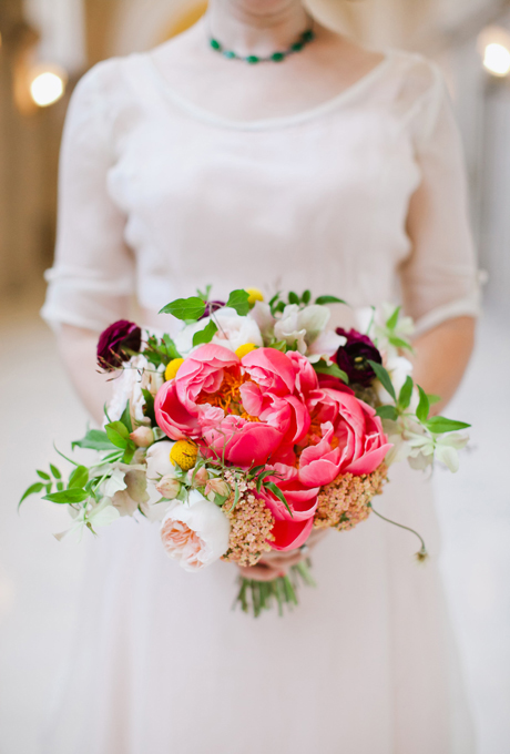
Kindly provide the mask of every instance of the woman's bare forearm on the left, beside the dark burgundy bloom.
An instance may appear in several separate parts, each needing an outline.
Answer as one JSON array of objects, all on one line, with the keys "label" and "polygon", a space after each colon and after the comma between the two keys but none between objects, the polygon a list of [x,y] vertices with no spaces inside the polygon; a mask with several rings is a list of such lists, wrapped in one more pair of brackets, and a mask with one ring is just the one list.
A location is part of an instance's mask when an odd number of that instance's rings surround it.
[{"label": "woman's bare forearm on the left, beside the dark burgundy bloom", "polygon": [[111,395],[110,377],[96,365],[98,333],[62,325],[59,350],[82,403],[98,422],[103,420],[103,406]]}]

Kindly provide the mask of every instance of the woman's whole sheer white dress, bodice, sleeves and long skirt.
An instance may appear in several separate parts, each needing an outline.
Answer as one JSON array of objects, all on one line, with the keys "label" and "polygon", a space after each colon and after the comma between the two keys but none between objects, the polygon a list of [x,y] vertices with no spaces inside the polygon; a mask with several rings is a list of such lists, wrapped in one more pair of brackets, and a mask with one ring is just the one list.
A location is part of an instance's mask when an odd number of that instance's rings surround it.
[{"label": "woman's whole sheer white dress, bodice, sleeves and long skirt", "polygon": [[[208,283],[400,296],[426,330],[476,315],[459,139],[438,70],[389,52],[314,110],[235,122],[166,84],[150,54],[95,67],[71,103],[43,315],[101,330]],[[345,310],[338,314],[345,316]],[[157,526],[91,544],[51,754],[471,754],[426,479],[391,469],[381,512],[314,551],[317,589],[279,619],[231,610],[236,570],[167,560]]]}]

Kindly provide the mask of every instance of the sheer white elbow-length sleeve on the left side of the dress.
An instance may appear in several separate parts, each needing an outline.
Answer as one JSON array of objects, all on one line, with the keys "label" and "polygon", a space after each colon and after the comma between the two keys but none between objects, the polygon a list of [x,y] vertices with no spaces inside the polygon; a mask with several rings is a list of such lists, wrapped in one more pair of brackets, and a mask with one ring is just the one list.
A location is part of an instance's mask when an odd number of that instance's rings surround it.
[{"label": "sheer white elbow-length sleeve on the left side of the dress", "polygon": [[100,63],[78,84],[62,140],[55,262],[47,272],[41,312],[60,323],[101,330],[126,316],[134,289],[133,256],[124,243],[125,217],[112,201],[108,84],[116,61]]}]

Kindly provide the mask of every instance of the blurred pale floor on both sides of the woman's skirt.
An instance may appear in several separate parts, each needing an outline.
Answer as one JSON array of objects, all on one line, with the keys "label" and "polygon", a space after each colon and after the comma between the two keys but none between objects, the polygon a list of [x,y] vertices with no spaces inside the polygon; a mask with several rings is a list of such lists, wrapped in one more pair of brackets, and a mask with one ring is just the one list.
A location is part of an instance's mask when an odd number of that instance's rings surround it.
[{"label": "blurred pale floor on both sides of the woman's skirt", "polygon": [[[17,501],[32,470],[83,434],[85,414],[33,303],[0,310],[0,754],[38,754],[38,731],[64,672],[84,546],[60,544],[65,511]],[[442,567],[476,716],[479,754],[510,752],[510,332],[487,314],[467,378],[449,408],[471,421],[457,476],[436,473]],[[72,754],[70,752],[70,754]],[[409,754],[412,754],[409,752]],[[431,753],[432,754],[432,753]]]}]

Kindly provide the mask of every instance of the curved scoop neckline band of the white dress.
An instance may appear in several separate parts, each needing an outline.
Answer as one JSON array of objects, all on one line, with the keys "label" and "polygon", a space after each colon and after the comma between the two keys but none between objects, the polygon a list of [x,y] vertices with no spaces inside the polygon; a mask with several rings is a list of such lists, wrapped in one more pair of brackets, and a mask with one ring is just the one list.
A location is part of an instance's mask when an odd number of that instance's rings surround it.
[{"label": "curved scoop neckline band of the white dress", "polygon": [[239,131],[264,131],[268,129],[285,129],[287,126],[313,121],[322,115],[327,115],[333,110],[336,110],[336,108],[339,108],[340,105],[355,99],[367,86],[377,81],[392,61],[392,50],[385,50],[384,55],[384,59],[377,63],[377,65],[375,65],[371,71],[365,73],[365,75],[355,81],[354,84],[350,84],[350,86],[347,86],[347,89],[344,89],[341,92],[339,92],[339,94],[336,94],[334,98],[326,100],[315,108],[304,110],[293,115],[280,115],[277,118],[265,118],[252,121],[238,121],[230,118],[223,118],[222,115],[217,115],[216,113],[213,113],[205,108],[195,104],[192,102],[192,100],[187,100],[169,84],[151,53],[145,53],[143,57],[149,63],[147,68],[157,86],[163,91],[167,99],[170,99],[181,110],[187,112],[187,114],[192,118],[225,129],[235,129]]}]

